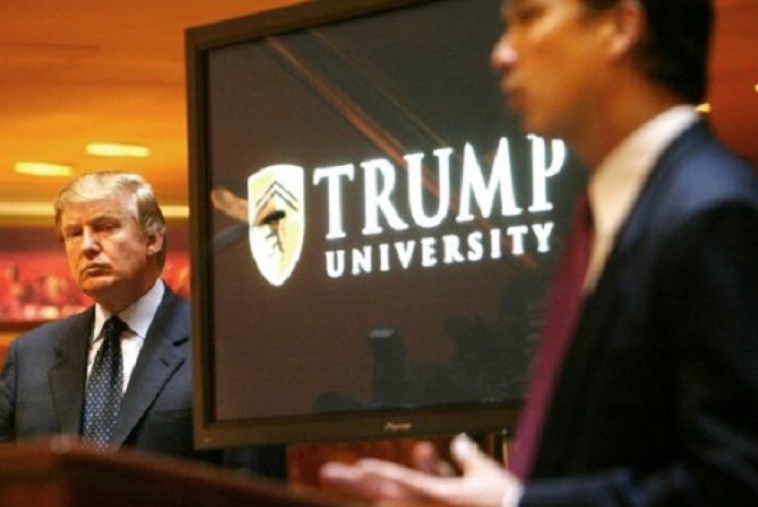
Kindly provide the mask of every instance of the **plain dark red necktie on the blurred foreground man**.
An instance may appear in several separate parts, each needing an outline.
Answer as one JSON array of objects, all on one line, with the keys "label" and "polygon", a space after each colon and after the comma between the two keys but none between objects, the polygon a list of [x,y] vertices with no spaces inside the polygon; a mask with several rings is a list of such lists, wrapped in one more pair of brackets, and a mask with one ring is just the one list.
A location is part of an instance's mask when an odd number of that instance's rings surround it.
[{"label": "plain dark red necktie on the blurred foreground man", "polygon": [[584,299],[583,285],[592,248],[592,213],[586,194],[576,203],[574,223],[548,298],[542,343],[532,367],[524,412],[519,419],[511,471],[529,478],[563,356]]}]

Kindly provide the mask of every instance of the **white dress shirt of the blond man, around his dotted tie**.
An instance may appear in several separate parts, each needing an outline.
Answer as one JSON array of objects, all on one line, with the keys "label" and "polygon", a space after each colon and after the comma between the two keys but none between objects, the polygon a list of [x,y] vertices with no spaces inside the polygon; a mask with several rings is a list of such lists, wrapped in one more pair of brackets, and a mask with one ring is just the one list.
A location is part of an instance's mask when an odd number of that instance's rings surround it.
[{"label": "white dress shirt of the blond man, around his dotted tie", "polygon": [[[121,334],[121,357],[123,360],[123,392],[126,392],[127,386],[129,386],[129,379],[132,378],[132,371],[134,371],[134,365],[137,364],[137,357],[142,350],[142,344],[144,343],[145,336],[147,336],[147,330],[153,323],[153,316],[158,310],[158,306],[161,305],[163,299],[163,292],[165,287],[163,286],[163,280],[158,279],[153,287],[140,299],[127,306],[120,314],[124,323],[129,326],[129,329],[125,330]],[[95,324],[92,326],[92,335],[89,336],[89,357],[87,358],[87,378],[92,371],[92,364],[95,362],[95,356],[100,350],[102,345],[102,326],[111,317],[111,314],[106,312],[102,306],[95,305]]]}]

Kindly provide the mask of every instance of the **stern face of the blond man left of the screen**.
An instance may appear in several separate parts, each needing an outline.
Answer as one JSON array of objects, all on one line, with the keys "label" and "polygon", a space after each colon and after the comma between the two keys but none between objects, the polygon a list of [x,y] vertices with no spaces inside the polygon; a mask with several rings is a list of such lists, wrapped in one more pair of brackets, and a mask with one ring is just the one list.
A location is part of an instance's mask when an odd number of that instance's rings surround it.
[{"label": "stern face of the blond man left of the screen", "polygon": [[136,299],[153,276],[149,266],[163,237],[142,233],[125,199],[69,204],[60,232],[68,266],[81,290],[103,301]]}]

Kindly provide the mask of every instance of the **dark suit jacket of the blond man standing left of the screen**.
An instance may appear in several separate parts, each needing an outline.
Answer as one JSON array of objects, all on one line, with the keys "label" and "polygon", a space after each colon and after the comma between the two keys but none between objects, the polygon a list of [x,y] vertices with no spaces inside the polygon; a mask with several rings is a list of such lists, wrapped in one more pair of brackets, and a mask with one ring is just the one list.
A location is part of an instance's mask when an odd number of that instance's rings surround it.
[{"label": "dark suit jacket of the blond man standing left of the screen", "polygon": [[[0,377],[0,441],[79,434],[94,307],[19,336]],[[114,442],[195,453],[189,304],[166,287],[121,403]]]}]

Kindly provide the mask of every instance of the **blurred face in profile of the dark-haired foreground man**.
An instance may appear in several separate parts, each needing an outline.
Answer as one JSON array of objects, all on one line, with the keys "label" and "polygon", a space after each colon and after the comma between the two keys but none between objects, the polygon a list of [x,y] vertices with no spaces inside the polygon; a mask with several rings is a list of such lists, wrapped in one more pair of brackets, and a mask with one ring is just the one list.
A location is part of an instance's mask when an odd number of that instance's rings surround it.
[{"label": "blurred face in profile of the dark-haired foreground man", "polygon": [[593,121],[603,93],[604,16],[582,0],[506,0],[506,29],[492,51],[492,67],[525,129],[571,138]]}]

